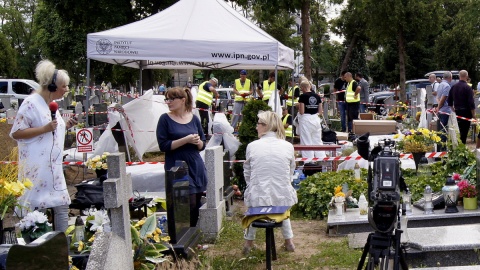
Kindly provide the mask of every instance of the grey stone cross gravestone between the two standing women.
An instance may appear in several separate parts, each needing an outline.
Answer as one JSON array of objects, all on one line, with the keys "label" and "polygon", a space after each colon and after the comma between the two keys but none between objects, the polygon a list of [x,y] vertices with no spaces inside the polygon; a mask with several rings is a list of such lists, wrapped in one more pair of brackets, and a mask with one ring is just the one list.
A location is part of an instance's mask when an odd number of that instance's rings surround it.
[{"label": "grey stone cross gravestone between the two standing women", "polygon": [[112,231],[96,234],[87,270],[133,269],[128,206],[132,180],[126,173],[125,154],[110,154],[107,164],[108,179],[103,182],[103,196]]}]

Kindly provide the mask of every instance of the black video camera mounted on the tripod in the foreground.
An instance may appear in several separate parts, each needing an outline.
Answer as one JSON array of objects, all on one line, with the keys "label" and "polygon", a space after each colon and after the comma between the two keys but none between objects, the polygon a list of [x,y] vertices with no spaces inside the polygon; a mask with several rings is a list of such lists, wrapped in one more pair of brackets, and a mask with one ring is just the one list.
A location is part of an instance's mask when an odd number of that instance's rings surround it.
[{"label": "black video camera mounted on the tripod in the foreground", "polygon": [[[400,172],[400,154],[395,141],[382,140],[370,151],[370,133],[357,139],[358,154],[369,161],[368,166],[368,222],[379,232],[391,233],[397,226],[400,210],[400,191],[408,188]],[[373,162],[373,171],[370,166]]]}]

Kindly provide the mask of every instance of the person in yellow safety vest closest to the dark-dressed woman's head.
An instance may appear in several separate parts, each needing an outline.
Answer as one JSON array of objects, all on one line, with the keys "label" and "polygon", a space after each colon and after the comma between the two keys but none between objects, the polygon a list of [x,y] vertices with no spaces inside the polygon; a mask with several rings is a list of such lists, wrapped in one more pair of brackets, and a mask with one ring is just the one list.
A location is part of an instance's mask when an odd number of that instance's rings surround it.
[{"label": "person in yellow safety vest closest to the dark-dressed woman's head", "polygon": [[200,123],[202,123],[203,132],[205,136],[208,136],[208,123],[209,117],[208,112],[210,106],[212,105],[212,99],[215,95],[215,98],[218,98],[218,93],[215,90],[215,87],[218,85],[218,80],[212,77],[209,81],[205,81],[198,86],[197,101],[195,105],[200,114]]}]

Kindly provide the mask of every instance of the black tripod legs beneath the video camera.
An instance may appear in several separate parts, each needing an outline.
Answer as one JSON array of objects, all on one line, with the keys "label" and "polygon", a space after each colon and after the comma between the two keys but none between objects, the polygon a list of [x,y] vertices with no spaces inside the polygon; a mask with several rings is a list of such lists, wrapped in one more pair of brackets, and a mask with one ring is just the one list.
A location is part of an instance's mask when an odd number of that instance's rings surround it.
[{"label": "black tripod legs beneath the video camera", "polygon": [[[357,270],[362,270],[367,255],[368,262],[365,270],[400,270],[400,267],[402,270],[408,270],[405,253],[400,245],[402,232],[402,230],[397,229],[395,234],[378,231],[370,233]],[[391,260],[393,260],[393,265],[390,265]]]}]

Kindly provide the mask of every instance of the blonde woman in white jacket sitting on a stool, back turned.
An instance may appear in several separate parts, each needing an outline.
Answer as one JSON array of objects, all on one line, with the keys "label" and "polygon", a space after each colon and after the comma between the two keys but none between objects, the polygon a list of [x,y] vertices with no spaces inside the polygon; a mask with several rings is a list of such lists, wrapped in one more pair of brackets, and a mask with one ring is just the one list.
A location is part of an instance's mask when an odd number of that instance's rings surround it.
[{"label": "blonde woman in white jacket sitting on a stool, back turned", "polygon": [[[270,111],[258,114],[257,132],[259,140],[247,146],[244,176],[247,182],[245,205],[293,206],[297,203],[297,193],[291,181],[295,170],[293,145],[285,141],[285,129],[280,117]],[[253,247],[255,228],[245,232],[244,253]],[[293,252],[292,226],[290,219],[283,221],[282,234],[285,248]]]}]

